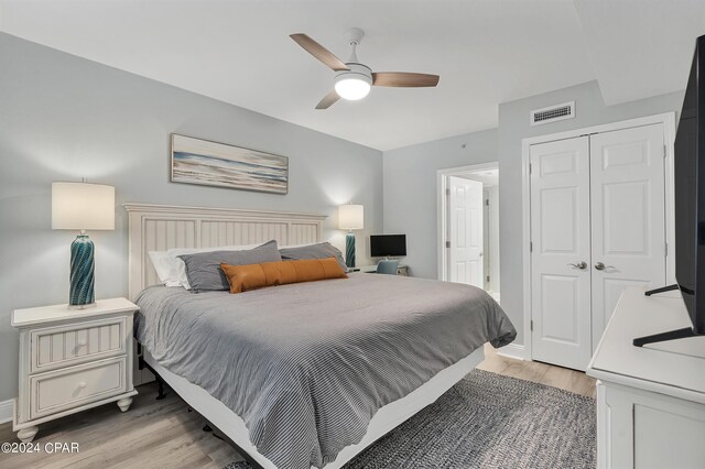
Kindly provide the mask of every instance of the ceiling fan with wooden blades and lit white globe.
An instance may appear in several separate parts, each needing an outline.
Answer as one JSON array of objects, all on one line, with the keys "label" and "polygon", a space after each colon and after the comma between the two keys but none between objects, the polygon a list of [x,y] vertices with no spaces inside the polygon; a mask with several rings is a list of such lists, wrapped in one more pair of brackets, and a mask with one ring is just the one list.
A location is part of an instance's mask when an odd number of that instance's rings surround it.
[{"label": "ceiling fan with wooden blades and lit white globe", "polygon": [[408,72],[372,72],[370,67],[358,62],[356,48],[365,32],[354,28],[350,30],[350,58],[343,62],[330,51],[308,37],[306,34],[291,34],[296,44],[323,62],[334,72],[335,87],[316,106],[316,109],[328,109],[338,99],[357,101],[370,92],[372,86],[390,86],[402,88],[433,87],[438,84],[438,75],[413,74]]}]

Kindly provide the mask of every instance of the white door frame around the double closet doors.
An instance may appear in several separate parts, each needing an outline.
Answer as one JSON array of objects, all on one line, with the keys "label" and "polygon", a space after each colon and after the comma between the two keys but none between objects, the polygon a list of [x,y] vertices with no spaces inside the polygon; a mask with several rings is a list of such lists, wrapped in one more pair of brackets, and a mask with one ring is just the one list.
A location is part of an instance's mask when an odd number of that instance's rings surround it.
[{"label": "white door frame around the double closet doors", "polygon": [[531,334],[531,176],[529,163],[531,161],[531,145],[547,143],[556,140],[574,139],[576,137],[604,133],[634,127],[663,124],[665,144],[665,242],[672,248],[666,252],[665,280],[666,284],[675,283],[675,181],[673,175],[673,153],[675,142],[675,112],[664,112],[642,118],[628,119],[565,132],[531,137],[521,141],[521,195],[522,195],[522,260],[523,260],[523,332],[524,360],[533,360]]}]

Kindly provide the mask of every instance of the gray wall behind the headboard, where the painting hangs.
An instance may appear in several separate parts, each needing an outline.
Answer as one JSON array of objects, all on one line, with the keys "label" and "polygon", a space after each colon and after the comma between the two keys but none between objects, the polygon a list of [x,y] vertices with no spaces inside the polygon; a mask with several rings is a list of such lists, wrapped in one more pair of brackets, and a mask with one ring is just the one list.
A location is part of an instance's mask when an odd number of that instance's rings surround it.
[{"label": "gray wall behind the headboard, where the painting hangs", "polygon": [[[17,396],[12,309],[68,301],[75,233],[51,229],[53,181],[87,177],[115,185],[118,204],[325,214],[324,237],[337,246],[345,234],[335,229],[335,207],[364,204],[358,258],[367,253],[365,234],[382,230],[377,150],[7,34],[0,34],[0,401]],[[289,156],[289,195],[170,183],[171,132]],[[90,233],[98,298],[128,292],[127,217],[120,206],[116,214],[115,231]]]}]

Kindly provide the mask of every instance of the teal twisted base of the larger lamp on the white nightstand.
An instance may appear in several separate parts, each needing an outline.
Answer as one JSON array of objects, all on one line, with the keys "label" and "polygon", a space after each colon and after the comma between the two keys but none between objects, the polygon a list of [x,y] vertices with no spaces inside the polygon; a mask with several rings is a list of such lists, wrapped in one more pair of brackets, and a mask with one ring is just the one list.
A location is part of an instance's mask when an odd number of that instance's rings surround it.
[{"label": "teal twisted base of the larger lamp on the white nightstand", "polygon": [[78,234],[70,243],[70,292],[68,307],[83,309],[96,304],[94,243],[87,234]]}]

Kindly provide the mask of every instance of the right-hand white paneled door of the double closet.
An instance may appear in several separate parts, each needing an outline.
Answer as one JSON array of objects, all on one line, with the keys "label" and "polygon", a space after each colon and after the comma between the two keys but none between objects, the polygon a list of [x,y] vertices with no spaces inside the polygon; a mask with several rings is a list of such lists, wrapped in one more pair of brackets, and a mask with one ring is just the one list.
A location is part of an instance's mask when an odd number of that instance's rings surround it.
[{"label": "right-hand white paneled door of the double closet", "polygon": [[665,284],[664,152],[662,124],[590,138],[594,347],[625,287]]}]

